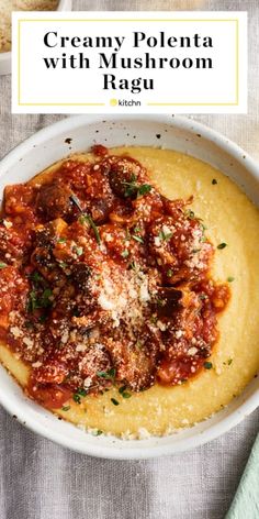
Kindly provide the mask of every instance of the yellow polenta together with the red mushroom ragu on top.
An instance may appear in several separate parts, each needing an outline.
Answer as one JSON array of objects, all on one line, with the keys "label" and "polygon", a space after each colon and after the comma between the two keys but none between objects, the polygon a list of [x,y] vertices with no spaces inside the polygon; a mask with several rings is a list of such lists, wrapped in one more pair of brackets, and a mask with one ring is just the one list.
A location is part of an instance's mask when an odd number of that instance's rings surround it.
[{"label": "yellow polenta together with the red mushroom ragu on top", "polygon": [[170,151],[95,145],[7,186],[1,362],[94,434],[207,418],[258,369],[258,223],[228,178]]}]

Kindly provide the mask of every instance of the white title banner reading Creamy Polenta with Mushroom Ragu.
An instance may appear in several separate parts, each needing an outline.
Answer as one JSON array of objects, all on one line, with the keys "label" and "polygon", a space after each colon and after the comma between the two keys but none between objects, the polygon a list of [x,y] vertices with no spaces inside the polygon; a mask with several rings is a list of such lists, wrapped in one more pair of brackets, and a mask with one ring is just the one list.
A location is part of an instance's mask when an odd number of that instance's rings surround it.
[{"label": "white title banner reading Creamy Polenta with Mushroom Ragu", "polygon": [[240,113],[244,12],[13,13],[14,113]]}]

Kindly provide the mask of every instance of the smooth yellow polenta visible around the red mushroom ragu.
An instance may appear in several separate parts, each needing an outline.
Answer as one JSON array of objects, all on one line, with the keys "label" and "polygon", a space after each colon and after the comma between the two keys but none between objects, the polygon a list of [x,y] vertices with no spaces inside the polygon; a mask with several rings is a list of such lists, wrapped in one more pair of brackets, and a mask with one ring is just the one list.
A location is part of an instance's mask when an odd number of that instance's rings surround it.
[{"label": "smooth yellow polenta visible around the red mushroom ragu", "polygon": [[[224,250],[216,249],[213,277],[218,281],[234,278],[229,281],[230,302],[219,316],[221,338],[210,358],[212,369],[182,386],[156,385],[130,399],[111,389],[82,398],[80,405],[69,402],[69,410],[58,411],[77,424],[128,438],[166,434],[207,418],[240,394],[258,372],[259,212],[229,178],[201,161],[167,150],[114,150],[116,154],[125,152],[146,166],[166,197],[194,196],[192,209],[207,227],[206,235],[215,247],[227,244]],[[0,347],[0,360],[24,386],[29,368],[4,346]],[[119,406],[112,404],[112,397]]]}]

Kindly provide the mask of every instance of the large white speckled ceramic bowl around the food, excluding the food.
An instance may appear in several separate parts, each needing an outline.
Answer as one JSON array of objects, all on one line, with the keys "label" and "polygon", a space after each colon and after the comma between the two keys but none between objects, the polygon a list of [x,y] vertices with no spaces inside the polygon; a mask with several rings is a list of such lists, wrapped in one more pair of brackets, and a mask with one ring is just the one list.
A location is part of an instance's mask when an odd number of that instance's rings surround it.
[{"label": "large white speckled ceramic bowl around the food, excluding the food", "polygon": [[[161,137],[158,141],[157,134]],[[67,144],[66,140],[71,139]],[[193,155],[217,167],[259,202],[259,168],[246,153],[218,133],[187,118],[170,115],[79,115],[64,119],[20,144],[0,164],[0,192],[5,184],[25,181],[71,152],[94,143],[162,145]],[[0,367],[0,402],[21,423],[64,446],[100,457],[145,459],[171,454],[205,443],[236,426],[259,405],[259,378],[255,378],[227,408],[198,426],[176,434],[123,441],[92,437],[58,420],[27,399],[18,384]]]}]

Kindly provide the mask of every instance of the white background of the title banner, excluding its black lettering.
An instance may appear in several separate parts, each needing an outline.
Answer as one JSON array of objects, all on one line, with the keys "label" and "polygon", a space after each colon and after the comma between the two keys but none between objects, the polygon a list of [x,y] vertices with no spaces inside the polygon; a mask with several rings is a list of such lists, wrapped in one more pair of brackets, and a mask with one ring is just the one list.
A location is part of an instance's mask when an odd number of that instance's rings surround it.
[{"label": "white background of the title banner, excluding its black lettering", "polygon": [[[171,21],[173,16],[173,20]],[[121,20],[128,19],[128,21]],[[184,21],[184,19],[189,21]],[[193,21],[190,21],[193,19]],[[201,21],[202,19],[206,21]],[[18,79],[18,24],[20,38],[20,99]],[[34,20],[34,21],[32,21]],[[37,21],[36,21],[37,20]],[[41,21],[38,21],[41,20]],[[95,21],[87,21],[95,20]],[[109,21],[98,21],[109,20]],[[111,21],[113,20],[113,21]],[[116,21],[117,20],[117,21]],[[142,21],[148,20],[148,21]],[[157,21],[160,20],[160,21]],[[176,21],[179,20],[179,21]],[[210,21],[214,20],[214,21]],[[216,21],[217,20],[217,21]],[[219,21],[218,21],[219,20]],[[228,20],[228,21],[225,21]],[[236,103],[236,23],[239,25],[239,96]],[[66,48],[44,45],[44,35],[55,31],[60,36],[125,36],[119,57],[138,57],[149,52],[151,57],[173,56],[211,57],[212,69],[99,69],[99,52],[110,56],[109,48]],[[144,42],[133,47],[133,31],[145,32],[159,42],[160,32],[169,36],[190,36],[199,33],[211,36],[213,47],[161,48],[159,43],[149,48]],[[56,38],[55,38],[56,41]],[[115,42],[114,42],[115,43]],[[90,58],[90,69],[47,69],[44,57],[60,57],[63,53]],[[153,78],[154,90],[133,93],[128,90],[104,90],[103,74],[114,74],[119,79]],[[140,101],[140,107],[111,107],[110,100]],[[103,103],[103,106],[89,106]],[[150,106],[149,103],[159,103]],[[165,103],[162,106],[162,103]],[[229,106],[226,106],[229,103]],[[184,106],[185,104],[185,106]],[[206,106],[204,106],[206,104]],[[14,13],[13,15],[13,112],[244,112],[246,111],[246,13],[237,12],[74,12],[74,13]]]}]

